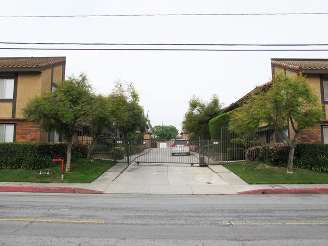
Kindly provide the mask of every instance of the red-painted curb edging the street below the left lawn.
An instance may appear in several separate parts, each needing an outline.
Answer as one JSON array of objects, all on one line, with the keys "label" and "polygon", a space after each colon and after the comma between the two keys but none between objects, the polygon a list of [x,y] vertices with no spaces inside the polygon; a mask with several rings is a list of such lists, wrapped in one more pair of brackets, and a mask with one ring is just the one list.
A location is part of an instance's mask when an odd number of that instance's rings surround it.
[{"label": "red-painted curb edging the street below the left lawn", "polygon": [[71,188],[71,187],[27,187],[27,186],[2,186],[0,192],[44,192],[44,193],[78,193],[102,194],[101,191]]}]

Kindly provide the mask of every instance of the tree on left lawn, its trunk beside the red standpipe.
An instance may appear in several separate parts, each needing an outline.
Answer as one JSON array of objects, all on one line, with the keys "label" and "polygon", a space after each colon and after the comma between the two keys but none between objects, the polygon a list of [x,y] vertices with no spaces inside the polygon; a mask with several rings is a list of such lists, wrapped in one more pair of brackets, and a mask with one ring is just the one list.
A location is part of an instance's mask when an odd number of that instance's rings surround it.
[{"label": "tree on left lawn, its trunk beside the red standpipe", "polygon": [[67,147],[66,172],[71,171],[72,137],[75,126],[86,119],[92,110],[91,86],[85,74],[69,77],[61,87],[28,102],[23,112],[45,131],[64,134]]}]

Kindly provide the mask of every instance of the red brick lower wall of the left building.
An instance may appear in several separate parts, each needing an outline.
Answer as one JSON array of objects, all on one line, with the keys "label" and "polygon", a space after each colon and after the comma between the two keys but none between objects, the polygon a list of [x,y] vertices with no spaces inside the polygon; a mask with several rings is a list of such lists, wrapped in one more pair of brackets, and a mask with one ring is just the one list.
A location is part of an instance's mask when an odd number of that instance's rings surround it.
[{"label": "red brick lower wall of the left building", "polygon": [[1,120],[0,124],[16,124],[16,142],[40,142],[41,129],[28,120]]}]

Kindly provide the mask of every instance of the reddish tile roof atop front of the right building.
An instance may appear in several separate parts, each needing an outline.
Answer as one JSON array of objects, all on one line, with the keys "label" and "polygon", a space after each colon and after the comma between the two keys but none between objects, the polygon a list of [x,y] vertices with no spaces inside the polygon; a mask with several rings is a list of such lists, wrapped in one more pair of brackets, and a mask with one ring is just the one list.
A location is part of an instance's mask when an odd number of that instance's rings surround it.
[{"label": "reddish tile roof atop front of the right building", "polygon": [[271,59],[271,64],[293,70],[328,69],[328,59]]}]

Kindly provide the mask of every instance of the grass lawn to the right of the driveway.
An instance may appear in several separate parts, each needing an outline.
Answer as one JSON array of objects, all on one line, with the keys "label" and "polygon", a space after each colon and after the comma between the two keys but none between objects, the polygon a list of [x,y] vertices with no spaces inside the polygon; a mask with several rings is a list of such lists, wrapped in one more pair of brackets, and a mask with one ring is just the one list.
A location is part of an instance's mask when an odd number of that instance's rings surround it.
[{"label": "grass lawn to the right of the driveway", "polygon": [[328,183],[328,173],[313,172],[293,168],[293,174],[287,174],[286,168],[269,166],[256,161],[230,163],[224,165],[249,184],[309,184]]}]

